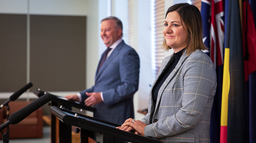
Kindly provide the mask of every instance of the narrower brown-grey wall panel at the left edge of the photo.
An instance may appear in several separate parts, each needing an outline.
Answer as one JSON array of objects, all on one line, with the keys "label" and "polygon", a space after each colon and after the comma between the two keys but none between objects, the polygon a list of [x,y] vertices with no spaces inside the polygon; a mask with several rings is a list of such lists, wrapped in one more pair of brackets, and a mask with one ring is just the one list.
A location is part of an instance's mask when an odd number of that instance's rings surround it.
[{"label": "narrower brown-grey wall panel at the left edge of the photo", "polygon": [[27,16],[0,14],[0,92],[26,85]]}]

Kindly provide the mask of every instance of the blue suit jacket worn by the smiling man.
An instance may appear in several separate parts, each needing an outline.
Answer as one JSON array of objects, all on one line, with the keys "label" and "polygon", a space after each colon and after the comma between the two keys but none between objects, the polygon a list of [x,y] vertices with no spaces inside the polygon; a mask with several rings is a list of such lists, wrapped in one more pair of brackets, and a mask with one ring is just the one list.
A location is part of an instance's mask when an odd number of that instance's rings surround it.
[{"label": "blue suit jacket worn by the smiling man", "polygon": [[138,84],[139,56],[122,41],[96,72],[94,86],[80,94],[84,102],[88,97],[85,92],[102,92],[104,102],[94,105],[97,109],[94,117],[121,125],[126,119],[134,118],[133,96]]}]

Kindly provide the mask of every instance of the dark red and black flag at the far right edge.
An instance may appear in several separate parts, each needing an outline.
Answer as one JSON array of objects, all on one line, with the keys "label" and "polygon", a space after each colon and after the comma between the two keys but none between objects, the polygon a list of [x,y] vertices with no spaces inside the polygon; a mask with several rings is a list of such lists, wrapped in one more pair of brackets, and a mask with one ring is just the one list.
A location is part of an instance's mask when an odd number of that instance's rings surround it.
[{"label": "dark red and black flag at the far right edge", "polygon": [[[256,142],[256,29],[251,7],[256,3],[243,1],[243,63],[245,68],[247,142]],[[254,8],[255,9],[255,8]]]}]

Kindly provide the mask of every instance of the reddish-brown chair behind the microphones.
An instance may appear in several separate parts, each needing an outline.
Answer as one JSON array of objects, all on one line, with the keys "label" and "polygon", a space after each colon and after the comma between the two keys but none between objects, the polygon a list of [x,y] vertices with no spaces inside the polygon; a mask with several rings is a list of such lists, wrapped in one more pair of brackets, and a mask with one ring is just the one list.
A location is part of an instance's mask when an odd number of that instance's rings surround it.
[{"label": "reddish-brown chair behind the microphones", "polygon": [[[26,101],[14,101],[9,102],[10,111],[9,115],[22,109],[31,102]],[[9,138],[42,138],[43,137],[43,108],[40,107],[38,110],[34,111],[32,114],[27,116],[18,124],[9,125]],[[6,107],[0,110],[0,124],[7,121],[6,117]],[[7,129],[3,129],[5,133]],[[1,135],[2,138],[2,135]]]}]

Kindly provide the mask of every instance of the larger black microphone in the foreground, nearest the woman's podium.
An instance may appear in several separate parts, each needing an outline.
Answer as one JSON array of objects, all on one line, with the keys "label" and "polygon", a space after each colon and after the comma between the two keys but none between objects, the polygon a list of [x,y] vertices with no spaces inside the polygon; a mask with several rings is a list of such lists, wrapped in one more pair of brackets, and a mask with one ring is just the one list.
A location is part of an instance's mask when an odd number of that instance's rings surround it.
[{"label": "larger black microphone in the foreground, nearest the woman's podium", "polygon": [[28,115],[32,114],[35,110],[38,110],[40,107],[45,105],[47,102],[51,101],[51,96],[46,93],[44,96],[36,99],[31,102],[29,105],[23,107],[22,109],[14,112],[10,115],[9,120],[7,122],[0,125],[0,131],[6,128],[9,124],[18,124],[20,121],[25,119]]}]

